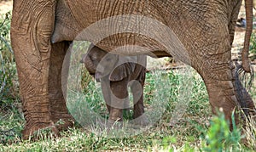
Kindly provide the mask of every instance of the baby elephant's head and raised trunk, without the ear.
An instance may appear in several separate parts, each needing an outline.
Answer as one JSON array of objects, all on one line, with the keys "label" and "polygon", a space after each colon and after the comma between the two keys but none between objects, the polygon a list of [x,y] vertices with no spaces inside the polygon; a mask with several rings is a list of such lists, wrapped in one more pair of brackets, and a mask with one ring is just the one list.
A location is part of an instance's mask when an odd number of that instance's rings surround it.
[{"label": "baby elephant's head and raised trunk, without the ear", "polygon": [[109,75],[117,60],[118,55],[91,45],[88,52],[83,55],[81,63],[84,63],[91,76],[95,76],[96,80],[99,80],[103,76]]}]

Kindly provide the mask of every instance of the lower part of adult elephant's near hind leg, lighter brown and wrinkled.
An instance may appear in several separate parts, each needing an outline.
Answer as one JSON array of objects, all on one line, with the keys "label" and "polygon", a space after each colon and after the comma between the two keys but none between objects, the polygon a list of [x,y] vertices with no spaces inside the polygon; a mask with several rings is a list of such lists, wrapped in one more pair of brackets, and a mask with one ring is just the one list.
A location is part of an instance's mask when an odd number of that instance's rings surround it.
[{"label": "lower part of adult elephant's near hind leg, lighter brown and wrinkled", "polygon": [[[230,61],[230,51],[201,60],[201,68],[197,70],[206,83],[212,113],[216,115],[218,110],[223,110],[226,120],[230,122],[230,129],[232,129],[231,115],[239,105],[233,86],[235,79],[232,70],[235,66]],[[235,118],[237,123],[238,115],[236,113]]]}]

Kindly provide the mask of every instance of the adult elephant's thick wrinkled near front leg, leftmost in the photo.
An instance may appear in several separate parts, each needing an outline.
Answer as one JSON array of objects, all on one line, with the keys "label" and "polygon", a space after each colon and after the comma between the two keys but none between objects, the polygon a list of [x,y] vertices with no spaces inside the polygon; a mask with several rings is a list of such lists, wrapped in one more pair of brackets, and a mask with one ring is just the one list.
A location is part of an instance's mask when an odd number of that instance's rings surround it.
[{"label": "adult elephant's thick wrinkled near front leg, leftmost in the photo", "polygon": [[[49,104],[49,58],[54,23],[55,1],[14,2],[11,40],[26,119],[23,138],[53,124]],[[58,133],[55,127],[51,128]]]}]

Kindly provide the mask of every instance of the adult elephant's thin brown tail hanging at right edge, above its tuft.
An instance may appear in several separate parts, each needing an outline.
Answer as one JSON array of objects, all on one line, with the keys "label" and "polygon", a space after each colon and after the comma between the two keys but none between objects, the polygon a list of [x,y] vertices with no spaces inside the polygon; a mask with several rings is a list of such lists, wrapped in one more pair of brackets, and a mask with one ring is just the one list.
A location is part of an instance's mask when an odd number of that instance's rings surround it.
[{"label": "adult elephant's thin brown tail hanging at right edge, above its tuft", "polygon": [[244,48],[241,53],[241,60],[242,60],[242,69],[245,70],[245,72],[249,73],[249,72],[252,72],[248,56],[249,56],[251,35],[253,32],[253,0],[245,0],[245,7],[246,7],[247,28],[246,28],[246,35],[244,40]]}]

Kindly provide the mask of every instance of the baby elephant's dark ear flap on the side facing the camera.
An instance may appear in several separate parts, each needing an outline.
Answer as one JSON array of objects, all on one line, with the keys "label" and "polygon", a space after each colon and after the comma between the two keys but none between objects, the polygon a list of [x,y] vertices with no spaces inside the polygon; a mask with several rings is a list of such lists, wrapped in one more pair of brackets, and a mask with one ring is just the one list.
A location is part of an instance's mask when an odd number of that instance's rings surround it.
[{"label": "baby elephant's dark ear flap on the side facing the camera", "polygon": [[123,80],[125,77],[131,76],[135,69],[135,63],[125,63],[117,66],[109,75],[111,82],[118,82]]}]

